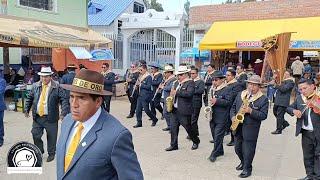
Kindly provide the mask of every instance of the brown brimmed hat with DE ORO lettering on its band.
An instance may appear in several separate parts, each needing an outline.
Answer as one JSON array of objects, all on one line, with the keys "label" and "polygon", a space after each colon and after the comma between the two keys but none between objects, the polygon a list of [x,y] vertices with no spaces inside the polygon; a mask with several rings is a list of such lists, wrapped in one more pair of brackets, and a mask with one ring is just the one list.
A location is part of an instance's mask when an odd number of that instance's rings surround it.
[{"label": "brown brimmed hat with DE ORO lettering on its band", "polygon": [[103,89],[104,77],[102,74],[87,69],[81,69],[79,73],[73,79],[72,85],[60,84],[63,89],[85,93],[85,94],[96,94],[96,95],[112,95],[112,92]]}]

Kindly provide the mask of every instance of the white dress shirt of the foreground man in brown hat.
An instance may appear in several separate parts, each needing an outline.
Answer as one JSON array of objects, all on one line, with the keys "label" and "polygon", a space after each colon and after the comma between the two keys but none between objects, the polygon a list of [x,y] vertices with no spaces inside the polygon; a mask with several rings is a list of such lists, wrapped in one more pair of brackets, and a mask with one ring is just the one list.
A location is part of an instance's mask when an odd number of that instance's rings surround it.
[{"label": "white dress shirt of the foreground man in brown hat", "polygon": [[[90,131],[90,129],[96,124],[100,114],[101,114],[101,107],[97,110],[97,112],[93,116],[91,116],[87,121],[82,123],[83,129],[82,129],[82,133],[81,133],[80,142],[86,136],[86,134]],[[66,146],[66,153],[68,152],[68,149],[69,149],[69,146],[71,144],[71,141],[72,141],[73,137],[75,136],[75,134],[77,132],[77,126],[79,125],[79,123],[80,122],[77,121],[74,124],[74,126],[73,126],[73,128],[72,128],[72,130],[71,130],[71,132],[69,134],[68,141],[67,141],[67,146]]]}]

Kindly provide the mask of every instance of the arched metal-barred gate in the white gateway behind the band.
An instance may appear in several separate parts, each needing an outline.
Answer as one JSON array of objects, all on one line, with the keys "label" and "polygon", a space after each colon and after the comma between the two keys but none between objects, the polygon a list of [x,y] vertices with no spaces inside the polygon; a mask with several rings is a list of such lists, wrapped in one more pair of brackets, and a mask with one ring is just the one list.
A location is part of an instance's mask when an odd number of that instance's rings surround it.
[{"label": "arched metal-barred gate in the white gateway behind the band", "polygon": [[159,29],[142,30],[129,38],[130,62],[145,60],[148,64],[174,64],[176,38]]}]

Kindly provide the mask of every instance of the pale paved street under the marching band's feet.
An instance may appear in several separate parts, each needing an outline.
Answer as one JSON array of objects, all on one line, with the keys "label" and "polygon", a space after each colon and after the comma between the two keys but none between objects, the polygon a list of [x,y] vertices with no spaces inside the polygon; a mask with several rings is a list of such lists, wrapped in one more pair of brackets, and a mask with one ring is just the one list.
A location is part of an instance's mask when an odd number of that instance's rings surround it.
[{"label": "pale paved street under the marching band's feet", "polygon": [[[238,179],[237,175],[240,172],[236,171],[235,167],[239,161],[233,147],[225,146],[225,155],[219,157],[215,163],[207,160],[213,144],[209,143],[211,137],[209,122],[204,119],[203,114],[199,124],[201,139],[199,149],[191,151],[192,143],[186,139],[186,133],[181,128],[179,150],[166,152],[164,149],[169,146],[170,135],[161,130],[165,127],[165,121],[160,120],[157,126],[150,127],[151,121],[144,116],[143,127],[133,129],[135,119],[125,118],[128,111],[129,103],[125,97],[112,101],[112,114],[133,134],[135,150],[145,179]],[[286,117],[291,126],[283,132],[283,135],[271,135],[270,132],[275,128],[275,118],[269,109],[269,118],[264,121],[260,131],[253,162],[253,175],[248,179],[289,180],[305,176],[301,140],[300,137],[294,136],[295,120],[288,115]],[[6,111],[4,121],[5,144],[0,148],[0,179],[56,179],[55,162],[45,162],[47,154],[44,155],[42,175],[7,175],[5,162],[7,152],[18,141],[32,142],[30,133],[32,119],[24,118],[22,113]],[[229,136],[224,144],[228,142]]]}]

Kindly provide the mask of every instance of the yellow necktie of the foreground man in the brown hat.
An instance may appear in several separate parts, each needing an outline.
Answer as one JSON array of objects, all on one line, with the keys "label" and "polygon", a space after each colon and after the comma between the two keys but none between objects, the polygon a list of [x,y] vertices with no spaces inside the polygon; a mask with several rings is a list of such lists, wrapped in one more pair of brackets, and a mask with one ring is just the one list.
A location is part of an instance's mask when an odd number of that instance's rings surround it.
[{"label": "yellow necktie of the foreground man in the brown hat", "polygon": [[68,167],[69,167],[69,165],[71,163],[71,160],[73,158],[73,155],[77,150],[77,147],[78,147],[78,145],[80,143],[82,130],[83,130],[83,125],[82,125],[82,123],[79,123],[78,127],[77,127],[77,132],[74,135],[74,137],[73,137],[73,139],[72,139],[72,141],[70,143],[70,147],[69,147],[69,149],[67,151],[66,156],[64,157],[64,172],[67,171],[67,169],[68,169]]}]

